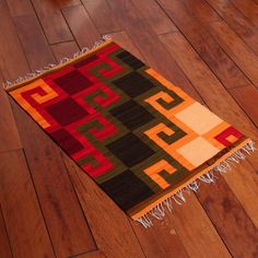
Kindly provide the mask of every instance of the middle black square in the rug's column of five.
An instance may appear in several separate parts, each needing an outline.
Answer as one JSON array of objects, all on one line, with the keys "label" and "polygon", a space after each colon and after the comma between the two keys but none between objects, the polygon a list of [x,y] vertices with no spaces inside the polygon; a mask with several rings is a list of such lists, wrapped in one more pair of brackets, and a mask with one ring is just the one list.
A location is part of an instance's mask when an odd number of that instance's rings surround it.
[{"label": "middle black square in the rug's column of five", "polygon": [[154,117],[134,101],[129,101],[110,110],[112,115],[122,122],[130,130],[137,129]]}]

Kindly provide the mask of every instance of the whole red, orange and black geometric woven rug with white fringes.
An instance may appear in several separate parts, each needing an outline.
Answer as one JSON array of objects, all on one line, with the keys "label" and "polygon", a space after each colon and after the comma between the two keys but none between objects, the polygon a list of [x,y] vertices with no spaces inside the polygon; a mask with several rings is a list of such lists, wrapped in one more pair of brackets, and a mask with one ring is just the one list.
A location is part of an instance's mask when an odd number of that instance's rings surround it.
[{"label": "whole red, orange and black geometric woven rug with white fringes", "polygon": [[112,39],[4,84],[133,220],[161,220],[254,142]]}]

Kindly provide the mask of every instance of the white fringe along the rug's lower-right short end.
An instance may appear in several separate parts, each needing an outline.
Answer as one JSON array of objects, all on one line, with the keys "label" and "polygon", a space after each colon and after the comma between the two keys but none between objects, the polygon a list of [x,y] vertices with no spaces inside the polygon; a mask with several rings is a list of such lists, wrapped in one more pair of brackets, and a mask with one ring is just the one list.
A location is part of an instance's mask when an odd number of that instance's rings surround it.
[{"label": "white fringe along the rug's lower-right short end", "polygon": [[227,173],[232,169],[232,164],[238,164],[242,160],[246,159],[246,154],[250,155],[251,152],[257,150],[255,148],[255,142],[249,141],[243,148],[234,152],[231,156],[226,157],[220,164],[215,165],[211,171],[200,176],[198,179],[191,181],[185,188],[178,190],[175,195],[168,197],[166,200],[159,203],[152,210],[150,210],[146,214],[142,215],[137,220],[137,222],[141,223],[145,228],[151,227],[153,225],[152,219],[155,218],[157,220],[163,220],[166,215],[166,212],[172,212],[173,203],[181,206],[186,202],[186,198],[184,197],[184,192],[195,191],[197,192],[200,186],[200,181],[212,184],[215,183],[218,178],[215,173],[221,175]]}]

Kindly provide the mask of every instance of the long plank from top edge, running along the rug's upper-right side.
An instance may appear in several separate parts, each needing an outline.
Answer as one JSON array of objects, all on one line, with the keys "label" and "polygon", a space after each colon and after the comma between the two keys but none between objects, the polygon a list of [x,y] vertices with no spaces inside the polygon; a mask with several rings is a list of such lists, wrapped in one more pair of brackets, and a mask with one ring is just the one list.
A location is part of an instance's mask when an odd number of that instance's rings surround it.
[{"label": "long plank from top edge, running along the rug's upper-right side", "polygon": [[[131,2],[128,0],[109,1],[109,5],[114,15],[116,15],[117,22],[122,24],[128,36],[132,38],[137,48],[141,50],[142,56],[148,60],[146,64],[161,72],[167,80],[181,87],[199,102],[202,102],[200,95],[197,94],[164,45],[159,40],[157,35],[141,19]],[[169,69],[167,69],[168,67]]]}]

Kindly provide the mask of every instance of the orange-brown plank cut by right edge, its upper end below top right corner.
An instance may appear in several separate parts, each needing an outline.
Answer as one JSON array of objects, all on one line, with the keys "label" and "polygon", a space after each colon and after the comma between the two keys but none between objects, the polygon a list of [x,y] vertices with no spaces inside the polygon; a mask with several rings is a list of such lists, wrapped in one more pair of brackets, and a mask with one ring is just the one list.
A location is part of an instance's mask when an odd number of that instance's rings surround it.
[{"label": "orange-brown plank cut by right edge, its upper end below top right corner", "polygon": [[258,57],[246,44],[222,22],[209,25],[210,33],[213,35],[220,46],[246,73],[246,75],[258,87]]}]

